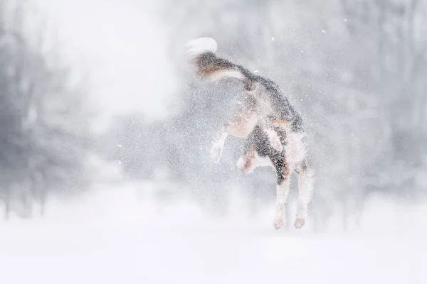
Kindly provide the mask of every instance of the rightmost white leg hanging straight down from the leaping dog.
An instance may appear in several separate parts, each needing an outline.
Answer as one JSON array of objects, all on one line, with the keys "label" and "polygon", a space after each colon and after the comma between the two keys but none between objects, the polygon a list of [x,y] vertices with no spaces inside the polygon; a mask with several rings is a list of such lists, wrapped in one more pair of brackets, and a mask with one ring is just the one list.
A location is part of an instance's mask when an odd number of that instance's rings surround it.
[{"label": "rightmost white leg hanging straight down from the leaping dog", "polygon": [[297,216],[294,226],[296,229],[305,225],[307,217],[307,205],[311,200],[313,191],[313,172],[308,167],[307,161],[304,160],[298,167],[298,204]]}]

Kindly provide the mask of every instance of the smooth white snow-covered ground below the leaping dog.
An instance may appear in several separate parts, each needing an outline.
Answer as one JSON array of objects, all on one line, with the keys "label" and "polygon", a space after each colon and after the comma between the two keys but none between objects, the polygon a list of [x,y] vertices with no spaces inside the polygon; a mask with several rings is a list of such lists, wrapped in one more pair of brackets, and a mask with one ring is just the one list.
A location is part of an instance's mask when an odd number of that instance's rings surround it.
[{"label": "smooth white snow-covered ground below the leaping dog", "polygon": [[52,201],[45,219],[1,222],[1,283],[427,283],[424,207],[400,233],[383,204],[362,231],[312,234],[275,231],[273,207],[251,219],[234,198],[229,216],[209,217],[141,188],[100,186]]}]

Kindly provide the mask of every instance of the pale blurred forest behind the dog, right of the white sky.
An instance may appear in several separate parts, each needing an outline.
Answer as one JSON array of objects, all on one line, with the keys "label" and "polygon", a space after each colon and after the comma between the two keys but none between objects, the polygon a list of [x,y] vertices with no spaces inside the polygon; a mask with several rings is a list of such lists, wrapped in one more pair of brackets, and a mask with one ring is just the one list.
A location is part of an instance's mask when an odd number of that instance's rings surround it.
[{"label": "pale blurred forest behind the dog, right of the white sky", "polygon": [[240,90],[232,82],[197,82],[188,72],[186,41],[210,36],[220,56],[278,82],[304,116],[317,226],[337,209],[344,227],[349,214],[357,222],[373,193],[403,203],[426,197],[427,1],[164,0],[161,6],[182,84],[169,119],[123,116],[102,139],[103,153],[120,160],[127,175],[161,173],[201,204],[223,210],[223,197],[235,187],[248,204],[273,201],[272,171],[237,173],[243,141],[228,138],[220,165],[209,163],[211,133]]}]

